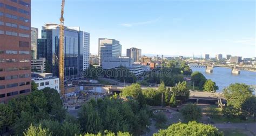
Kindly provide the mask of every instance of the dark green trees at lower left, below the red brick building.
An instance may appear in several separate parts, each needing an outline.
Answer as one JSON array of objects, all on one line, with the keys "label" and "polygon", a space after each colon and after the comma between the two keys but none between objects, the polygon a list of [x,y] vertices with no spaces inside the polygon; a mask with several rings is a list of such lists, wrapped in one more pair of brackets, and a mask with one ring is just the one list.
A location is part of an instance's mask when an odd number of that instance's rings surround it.
[{"label": "dark green trees at lower left, below the red brick building", "polygon": [[44,119],[61,121],[65,118],[65,110],[58,92],[46,87],[42,91],[33,91],[27,96],[11,99],[8,104],[0,105],[0,129],[9,128],[17,135],[31,124]]}]

